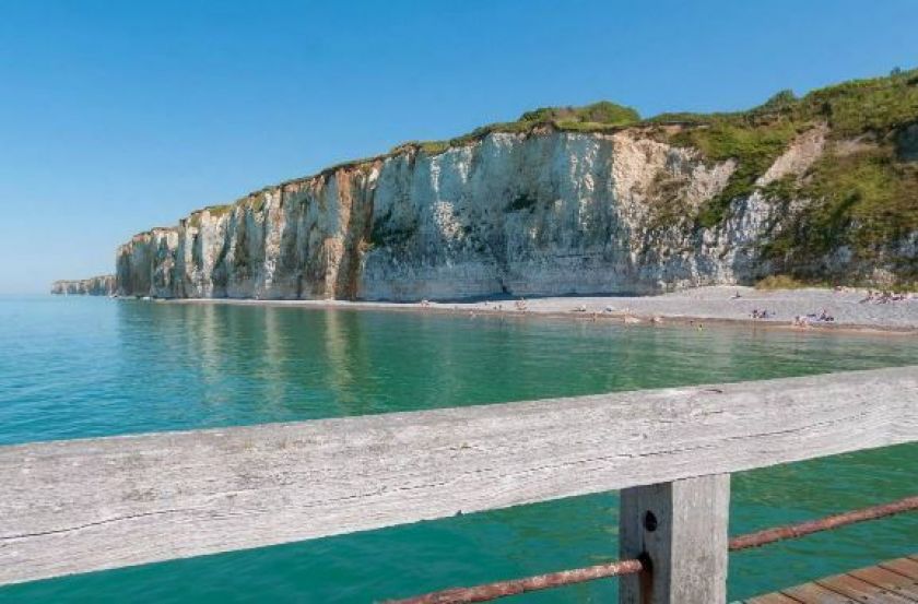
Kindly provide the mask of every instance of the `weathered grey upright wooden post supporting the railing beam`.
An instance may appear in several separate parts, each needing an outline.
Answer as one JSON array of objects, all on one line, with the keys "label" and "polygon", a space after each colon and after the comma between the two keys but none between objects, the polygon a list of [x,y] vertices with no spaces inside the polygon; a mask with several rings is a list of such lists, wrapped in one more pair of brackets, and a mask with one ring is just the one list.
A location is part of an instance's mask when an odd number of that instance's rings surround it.
[{"label": "weathered grey upright wooden post supporting the railing beam", "polygon": [[729,474],[623,489],[621,558],[650,571],[621,579],[620,604],[725,603],[729,511]]}]

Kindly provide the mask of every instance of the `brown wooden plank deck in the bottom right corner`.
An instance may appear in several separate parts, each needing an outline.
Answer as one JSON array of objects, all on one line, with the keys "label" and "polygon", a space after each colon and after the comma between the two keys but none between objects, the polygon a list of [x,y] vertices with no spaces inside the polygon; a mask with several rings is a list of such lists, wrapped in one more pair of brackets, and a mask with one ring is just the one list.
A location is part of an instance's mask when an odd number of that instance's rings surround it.
[{"label": "brown wooden plank deck in the bottom right corner", "polygon": [[826,577],[746,600],[746,604],[915,604],[918,555]]}]

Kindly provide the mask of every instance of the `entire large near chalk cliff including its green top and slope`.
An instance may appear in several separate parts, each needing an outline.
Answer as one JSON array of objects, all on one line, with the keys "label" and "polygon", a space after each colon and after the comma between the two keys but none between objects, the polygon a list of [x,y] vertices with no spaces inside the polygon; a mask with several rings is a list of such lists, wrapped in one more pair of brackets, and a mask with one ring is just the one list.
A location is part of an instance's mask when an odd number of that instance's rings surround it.
[{"label": "entire large near chalk cliff including its green top and slope", "polygon": [[543,108],[134,236],[128,296],[651,294],[918,284],[918,70],[734,114]]}]

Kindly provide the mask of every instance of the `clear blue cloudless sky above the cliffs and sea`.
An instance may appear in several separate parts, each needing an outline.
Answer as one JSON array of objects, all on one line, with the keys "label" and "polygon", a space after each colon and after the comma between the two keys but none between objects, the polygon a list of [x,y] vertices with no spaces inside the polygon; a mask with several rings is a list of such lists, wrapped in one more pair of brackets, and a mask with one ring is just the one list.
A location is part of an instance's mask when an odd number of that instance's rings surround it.
[{"label": "clear blue cloudless sky above the cliffs and sea", "polygon": [[918,0],[0,0],[0,293],[544,105],[727,110],[918,66]]}]

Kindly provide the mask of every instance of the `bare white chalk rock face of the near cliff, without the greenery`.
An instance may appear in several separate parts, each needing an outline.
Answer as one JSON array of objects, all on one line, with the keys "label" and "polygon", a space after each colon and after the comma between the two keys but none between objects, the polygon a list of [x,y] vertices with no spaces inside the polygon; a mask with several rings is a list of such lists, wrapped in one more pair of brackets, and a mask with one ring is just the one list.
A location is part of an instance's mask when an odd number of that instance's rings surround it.
[{"label": "bare white chalk rock face of the near cliff, without the greenery", "polygon": [[[779,162],[774,177],[800,164]],[[734,200],[717,229],[685,218],[734,168],[639,130],[492,133],[280,185],[137,235],[118,249],[117,289],[414,300],[750,282],[767,269],[757,246],[774,204],[758,193]]]}]

